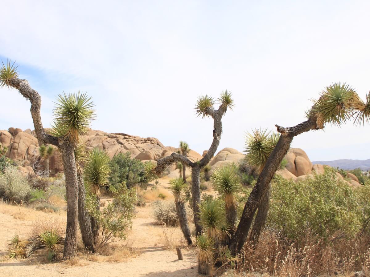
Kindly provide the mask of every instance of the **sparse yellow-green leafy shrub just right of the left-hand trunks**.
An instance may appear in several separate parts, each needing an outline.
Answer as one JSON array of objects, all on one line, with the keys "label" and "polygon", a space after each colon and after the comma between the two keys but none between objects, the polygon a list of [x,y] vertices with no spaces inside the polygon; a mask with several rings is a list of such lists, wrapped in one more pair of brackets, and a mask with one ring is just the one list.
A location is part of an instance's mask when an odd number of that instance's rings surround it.
[{"label": "sparse yellow-green leafy shrub just right of the left-hand trunks", "polygon": [[128,189],[123,183],[118,188],[111,186],[113,201],[103,211],[96,209],[95,197],[91,194],[86,196],[86,208],[94,216],[100,226],[101,241],[98,247],[104,247],[111,242],[124,240],[128,229],[132,227],[134,218],[134,205],[137,203],[137,191],[135,188]]}]

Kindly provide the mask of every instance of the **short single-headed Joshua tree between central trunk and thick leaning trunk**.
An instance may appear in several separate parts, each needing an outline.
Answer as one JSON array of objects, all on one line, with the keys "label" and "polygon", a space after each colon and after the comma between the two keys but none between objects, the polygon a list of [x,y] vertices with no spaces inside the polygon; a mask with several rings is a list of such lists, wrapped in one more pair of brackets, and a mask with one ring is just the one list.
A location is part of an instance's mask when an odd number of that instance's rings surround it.
[{"label": "short single-headed Joshua tree between central trunk and thick leaning trunk", "polygon": [[216,193],[225,199],[226,223],[230,229],[231,235],[235,231],[235,222],[238,216],[238,202],[236,196],[242,190],[240,179],[235,170],[226,165],[216,168],[211,176],[213,189]]}]

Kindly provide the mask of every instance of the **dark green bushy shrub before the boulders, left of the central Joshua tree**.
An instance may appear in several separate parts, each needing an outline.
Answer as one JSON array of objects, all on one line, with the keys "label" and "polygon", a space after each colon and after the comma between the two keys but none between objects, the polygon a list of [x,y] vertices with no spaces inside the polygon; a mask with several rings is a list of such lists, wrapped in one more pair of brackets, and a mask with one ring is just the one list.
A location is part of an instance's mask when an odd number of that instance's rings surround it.
[{"label": "dark green bushy shrub before the boulders, left of the central Joshua tree", "polygon": [[140,183],[147,183],[144,177],[144,164],[131,159],[131,153],[119,153],[115,155],[109,163],[112,174],[109,179],[110,185],[118,188],[122,182],[126,183],[128,188]]}]

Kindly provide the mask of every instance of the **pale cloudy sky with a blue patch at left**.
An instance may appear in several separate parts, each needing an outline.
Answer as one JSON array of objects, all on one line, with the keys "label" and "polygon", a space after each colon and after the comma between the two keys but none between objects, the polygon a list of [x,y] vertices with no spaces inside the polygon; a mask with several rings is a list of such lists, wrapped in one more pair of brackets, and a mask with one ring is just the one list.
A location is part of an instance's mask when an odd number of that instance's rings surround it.
[{"label": "pale cloudy sky with a blue patch at left", "polygon": [[[3,1],[0,59],[42,97],[44,127],[59,93],[92,96],[92,129],[185,140],[199,153],[213,122],[200,95],[233,93],[219,150],[245,134],[305,120],[310,99],[347,82],[370,90],[370,1]],[[0,88],[0,129],[33,129],[30,103]],[[297,136],[310,160],[370,158],[369,124]]]}]

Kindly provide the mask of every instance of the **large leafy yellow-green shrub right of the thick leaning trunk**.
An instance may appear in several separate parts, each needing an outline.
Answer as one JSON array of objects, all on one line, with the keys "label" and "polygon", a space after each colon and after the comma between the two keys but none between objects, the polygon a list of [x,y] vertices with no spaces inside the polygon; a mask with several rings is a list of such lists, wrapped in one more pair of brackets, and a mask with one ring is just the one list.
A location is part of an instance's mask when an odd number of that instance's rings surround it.
[{"label": "large leafy yellow-green shrub right of the thick leaning trunk", "polygon": [[334,169],[295,182],[276,177],[273,182],[268,225],[289,240],[307,234],[321,239],[336,234],[352,237],[359,231],[356,196],[348,185],[337,181]]}]

